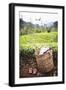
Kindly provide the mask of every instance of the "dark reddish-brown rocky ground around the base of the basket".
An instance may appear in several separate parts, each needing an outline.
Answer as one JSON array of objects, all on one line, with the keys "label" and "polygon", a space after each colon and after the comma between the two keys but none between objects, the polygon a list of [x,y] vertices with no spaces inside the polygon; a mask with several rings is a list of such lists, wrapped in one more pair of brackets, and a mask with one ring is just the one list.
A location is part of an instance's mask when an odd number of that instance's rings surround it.
[{"label": "dark reddish-brown rocky ground around the base of the basket", "polygon": [[54,68],[48,73],[42,73],[37,68],[35,60],[28,60],[27,62],[24,61],[22,65],[20,65],[20,78],[46,76],[57,76],[57,66],[54,66]]}]

